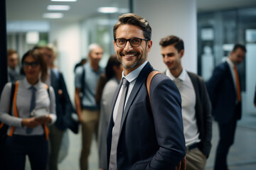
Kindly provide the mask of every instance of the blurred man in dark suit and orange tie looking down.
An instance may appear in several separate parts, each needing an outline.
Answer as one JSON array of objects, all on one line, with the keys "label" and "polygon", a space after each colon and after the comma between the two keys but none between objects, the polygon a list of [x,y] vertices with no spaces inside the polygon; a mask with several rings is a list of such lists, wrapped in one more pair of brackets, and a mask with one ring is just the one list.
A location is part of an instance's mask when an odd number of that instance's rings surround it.
[{"label": "blurred man in dark suit and orange tie looking down", "polygon": [[220,140],[216,149],[215,170],[226,170],[228,150],[233,145],[237,120],[241,118],[240,79],[237,65],[245,58],[244,45],[235,45],[226,62],[218,65],[206,83],[218,122]]}]

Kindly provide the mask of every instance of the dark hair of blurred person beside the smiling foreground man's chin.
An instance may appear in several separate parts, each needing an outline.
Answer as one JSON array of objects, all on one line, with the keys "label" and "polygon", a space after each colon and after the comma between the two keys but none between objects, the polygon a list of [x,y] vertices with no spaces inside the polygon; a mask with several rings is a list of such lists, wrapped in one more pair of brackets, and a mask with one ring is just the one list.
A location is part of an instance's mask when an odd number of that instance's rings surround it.
[{"label": "dark hair of blurred person beside the smiling foreground man's chin", "polygon": [[114,77],[115,72],[113,67],[114,66],[120,66],[121,63],[117,60],[117,55],[111,55],[110,59],[107,62],[107,66],[105,68],[105,74],[107,77],[107,81],[112,79],[112,77]]}]

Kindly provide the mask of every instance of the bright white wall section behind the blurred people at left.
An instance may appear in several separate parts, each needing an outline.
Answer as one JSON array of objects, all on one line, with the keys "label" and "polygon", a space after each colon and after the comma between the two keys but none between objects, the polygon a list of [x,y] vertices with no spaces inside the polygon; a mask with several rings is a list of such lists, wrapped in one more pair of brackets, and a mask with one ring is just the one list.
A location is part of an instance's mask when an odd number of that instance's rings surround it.
[{"label": "bright white wall section behind the blurred people at left", "polygon": [[74,78],[73,69],[80,61],[80,23],[50,23],[49,42],[57,47],[58,58],[55,60],[60,72],[63,72],[65,83],[74,103]]}]

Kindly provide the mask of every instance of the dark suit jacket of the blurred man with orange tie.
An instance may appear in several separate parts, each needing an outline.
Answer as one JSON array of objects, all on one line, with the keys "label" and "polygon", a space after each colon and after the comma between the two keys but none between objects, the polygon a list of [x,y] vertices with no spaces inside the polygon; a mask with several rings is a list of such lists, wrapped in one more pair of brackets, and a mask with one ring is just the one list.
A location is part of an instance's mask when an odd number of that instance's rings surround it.
[{"label": "dark suit jacket of the blurred man with orange tie", "polygon": [[241,118],[241,103],[236,103],[237,94],[228,62],[218,65],[206,83],[213,108],[213,117],[218,123],[228,123]]}]

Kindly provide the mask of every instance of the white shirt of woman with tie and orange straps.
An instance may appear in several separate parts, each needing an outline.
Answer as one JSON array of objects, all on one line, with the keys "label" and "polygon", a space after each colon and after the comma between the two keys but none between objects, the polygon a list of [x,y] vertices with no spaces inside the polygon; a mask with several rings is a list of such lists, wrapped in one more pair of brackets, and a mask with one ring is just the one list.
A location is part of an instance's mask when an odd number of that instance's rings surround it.
[{"label": "white shirt of woman with tie and orange straps", "polygon": [[[55,94],[53,88],[50,86],[50,98],[45,84],[41,81],[38,81],[36,85],[36,107],[37,108],[46,108],[50,113],[51,124],[55,123]],[[7,83],[4,86],[4,90],[1,94],[0,101],[0,120],[6,125],[9,125],[9,130],[11,126],[15,127],[14,134],[16,135],[43,135],[44,130],[41,125],[33,128],[33,131],[30,134],[26,133],[26,127],[22,127],[21,120],[23,118],[29,118],[29,110],[31,105],[31,84],[28,83],[27,79],[19,81],[18,91],[16,97],[16,107],[18,111],[18,118],[14,117],[14,111],[12,115],[9,115],[9,105],[11,98],[11,83]],[[9,130],[7,133],[9,133]]]}]

